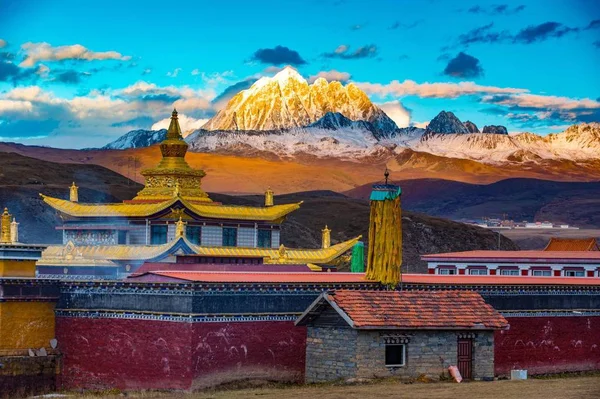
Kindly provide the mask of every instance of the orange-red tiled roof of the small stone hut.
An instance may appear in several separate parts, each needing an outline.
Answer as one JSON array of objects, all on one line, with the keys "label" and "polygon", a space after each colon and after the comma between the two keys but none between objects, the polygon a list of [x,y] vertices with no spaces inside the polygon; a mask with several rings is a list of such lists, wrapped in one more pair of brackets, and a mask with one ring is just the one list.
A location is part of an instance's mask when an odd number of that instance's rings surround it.
[{"label": "orange-red tiled roof of the small stone hut", "polygon": [[[481,295],[472,291],[338,290],[320,298],[357,329],[495,330],[508,325]],[[318,305],[319,300],[311,308]],[[298,324],[310,316],[311,309]]]}]

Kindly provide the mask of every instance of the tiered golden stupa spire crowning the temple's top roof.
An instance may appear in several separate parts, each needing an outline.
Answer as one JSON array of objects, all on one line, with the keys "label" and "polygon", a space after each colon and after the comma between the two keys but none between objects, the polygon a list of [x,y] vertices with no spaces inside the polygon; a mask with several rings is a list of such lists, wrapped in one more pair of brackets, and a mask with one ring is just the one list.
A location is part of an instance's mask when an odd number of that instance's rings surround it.
[{"label": "tiered golden stupa spire crowning the temple's top roof", "polygon": [[135,200],[168,200],[173,198],[173,185],[179,184],[179,196],[196,202],[211,202],[202,188],[203,170],[192,169],[185,160],[188,144],[183,140],[177,110],[171,114],[167,137],[160,143],[159,164],[142,171],[145,184]]}]

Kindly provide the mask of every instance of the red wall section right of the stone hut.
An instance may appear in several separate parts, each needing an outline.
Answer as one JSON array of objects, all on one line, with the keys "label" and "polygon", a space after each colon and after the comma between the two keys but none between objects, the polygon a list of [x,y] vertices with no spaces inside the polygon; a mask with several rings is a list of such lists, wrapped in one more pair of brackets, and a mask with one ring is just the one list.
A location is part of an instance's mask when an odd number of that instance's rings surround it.
[{"label": "red wall section right of the stone hut", "polygon": [[507,317],[494,339],[496,375],[600,370],[600,317]]}]

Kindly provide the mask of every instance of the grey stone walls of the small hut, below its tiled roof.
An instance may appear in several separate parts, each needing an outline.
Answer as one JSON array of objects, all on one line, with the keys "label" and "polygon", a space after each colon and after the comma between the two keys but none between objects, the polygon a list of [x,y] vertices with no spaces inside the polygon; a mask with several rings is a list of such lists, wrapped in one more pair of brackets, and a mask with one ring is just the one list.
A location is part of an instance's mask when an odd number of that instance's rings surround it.
[{"label": "grey stone walls of the small hut, below its tiled roof", "polygon": [[[479,331],[473,339],[473,378],[494,377],[494,335]],[[386,340],[405,343],[405,365],[386,367]],[[439,379],[457,364],[456,331],[360,331],[309,327],[306,382],[346,378],[405,377]]]}]

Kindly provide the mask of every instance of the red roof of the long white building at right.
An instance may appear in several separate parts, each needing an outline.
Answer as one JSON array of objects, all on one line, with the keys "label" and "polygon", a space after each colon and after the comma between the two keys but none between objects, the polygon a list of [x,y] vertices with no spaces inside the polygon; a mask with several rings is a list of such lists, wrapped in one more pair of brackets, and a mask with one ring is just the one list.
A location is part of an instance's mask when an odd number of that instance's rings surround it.
[{"label": "red roof of the long white building at right", "polygon": [[600,262],[600,251],[465,251],[422,255],[425,261],[434,260],[530,260],[534,262],[593,261]]}]

